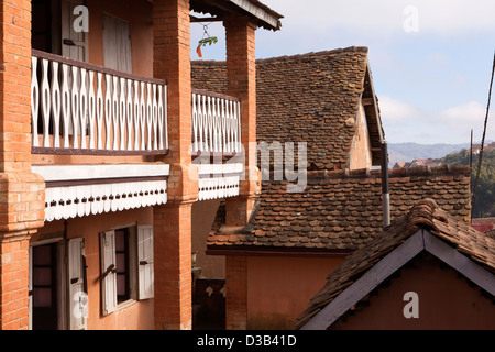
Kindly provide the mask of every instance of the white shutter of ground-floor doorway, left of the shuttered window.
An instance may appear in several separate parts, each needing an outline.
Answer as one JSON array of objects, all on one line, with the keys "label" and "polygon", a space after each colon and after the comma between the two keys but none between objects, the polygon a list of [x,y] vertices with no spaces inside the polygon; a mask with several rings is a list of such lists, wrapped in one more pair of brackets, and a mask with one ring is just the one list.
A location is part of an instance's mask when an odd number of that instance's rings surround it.
[{"label": "white shutter of ground-floor doorway, left of the shuttered window", "polygon": [[85,293],[85,239],[68,242],[68,286],[70,330],[85,330],[88,317],[88,295]]}]

